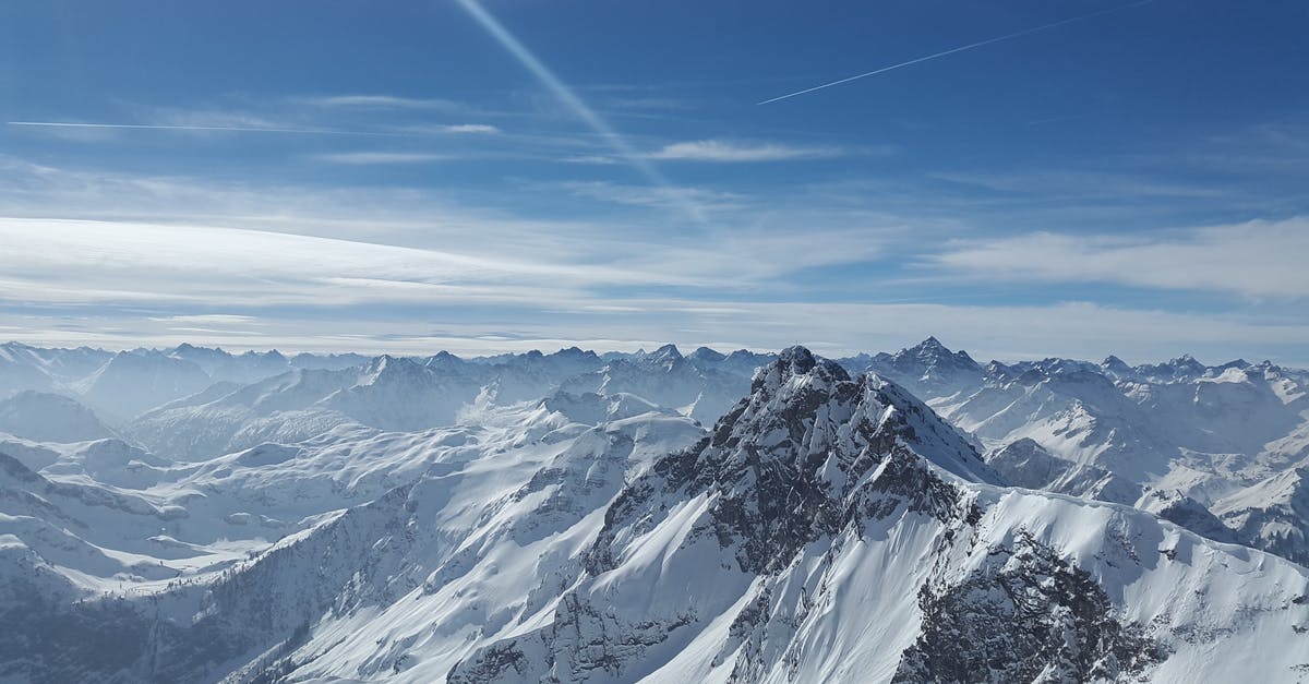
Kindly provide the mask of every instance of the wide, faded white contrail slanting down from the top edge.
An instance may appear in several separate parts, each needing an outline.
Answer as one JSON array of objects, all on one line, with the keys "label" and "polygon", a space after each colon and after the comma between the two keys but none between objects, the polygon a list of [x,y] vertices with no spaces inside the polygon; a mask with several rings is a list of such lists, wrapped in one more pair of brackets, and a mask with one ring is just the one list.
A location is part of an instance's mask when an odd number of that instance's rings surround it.
[{"label": "wide, faded white contrail slanting down from the top edge", "polygon": [[[651,185],[661,190],[669,191],[669,197],[678,198],[679,193],[675,191],[672,183],[656,169],[649,161],[645,160],[639,152],[632,149],[627,140],[618,134],[605,119],[596,114],[593,109],[586,106],[572,88],[562,81],[550,67],[543,62],[537,59],[537,55],[528,50],[528,46],[522,45],[509,29],[505,29],[499,20],[491,16],[490,12],[482,8],[476,0],[458,0],[459,7],[469,13],[478,24],[491,34],[492,38],[501,47],[504,47],[514,59],[517,59],[533,76],[537,77],[555,97],[559,98],[568,109],[573,111],[583,122],[586,123],[593,131],[600,134],[601,138],[614,148],[620,157],[623,157],[634,169],[636,169],[641,176],[645,177]],[[677,203],[682,206],[682,210],[690,215],[695,221],[703,223],[704,216],[699,207],[687,202],[686,199],[677,199]]]}]

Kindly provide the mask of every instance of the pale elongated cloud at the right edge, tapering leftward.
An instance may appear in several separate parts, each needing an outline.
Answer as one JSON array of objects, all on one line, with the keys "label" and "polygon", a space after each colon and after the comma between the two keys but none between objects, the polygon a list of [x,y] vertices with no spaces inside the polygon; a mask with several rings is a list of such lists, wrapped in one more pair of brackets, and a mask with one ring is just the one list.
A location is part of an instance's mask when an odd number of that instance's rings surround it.
[{"label": "pale elongated cloud at the right edge, tapering leftward", "polygon": [[1309,296],[1309,218],[1153,235],[1038,232],[957,241],[928,259],[979,279],[1100,282],[1249,297]]}]

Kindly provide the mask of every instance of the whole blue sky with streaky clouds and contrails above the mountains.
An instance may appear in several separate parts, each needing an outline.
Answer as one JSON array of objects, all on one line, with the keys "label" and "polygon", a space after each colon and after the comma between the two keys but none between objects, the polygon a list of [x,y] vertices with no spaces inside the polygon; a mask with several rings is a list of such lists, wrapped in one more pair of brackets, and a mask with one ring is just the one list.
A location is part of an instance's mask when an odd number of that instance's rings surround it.
[{"label": "whole blue sky with streaky clouds and contrails above the mountains", "polygon": [[1306,26],[1299,0],[7,1],[0,339],[1309,366]]}]

